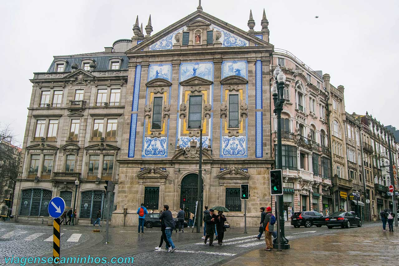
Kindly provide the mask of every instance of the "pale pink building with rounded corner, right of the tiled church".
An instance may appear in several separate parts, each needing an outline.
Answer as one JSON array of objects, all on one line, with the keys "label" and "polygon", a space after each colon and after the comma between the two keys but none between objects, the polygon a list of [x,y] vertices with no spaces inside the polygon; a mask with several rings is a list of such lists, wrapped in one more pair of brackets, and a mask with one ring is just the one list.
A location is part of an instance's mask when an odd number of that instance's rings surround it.
[{"label": "pale pink building with rounded corner, right of the tiled church", "polygon": [[[293,212],[306,210],[328,214],[332,211],[328,93],[321,71],[313,71],[290,52],[279,49],[273,53],[272,71],[277,65],[286,75],[281,115],[284,216],[289,220]],[[274,153],[277,119],[274,114],[272,118]]]}]

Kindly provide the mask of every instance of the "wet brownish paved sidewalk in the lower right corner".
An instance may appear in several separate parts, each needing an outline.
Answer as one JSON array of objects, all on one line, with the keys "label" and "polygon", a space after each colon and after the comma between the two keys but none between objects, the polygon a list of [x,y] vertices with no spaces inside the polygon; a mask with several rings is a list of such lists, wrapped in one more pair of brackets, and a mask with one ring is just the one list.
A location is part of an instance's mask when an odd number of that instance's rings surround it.
[{"label": "wet brownish paved sidewalk in the lower right corner", "polygon": [[228,266],[306,265],[369,266],[398,265],[399,230],[383,232],[381,226],[331,230],[326,234],[290,241],[290,249],[264,251],[258,248],[233,260]]}]

